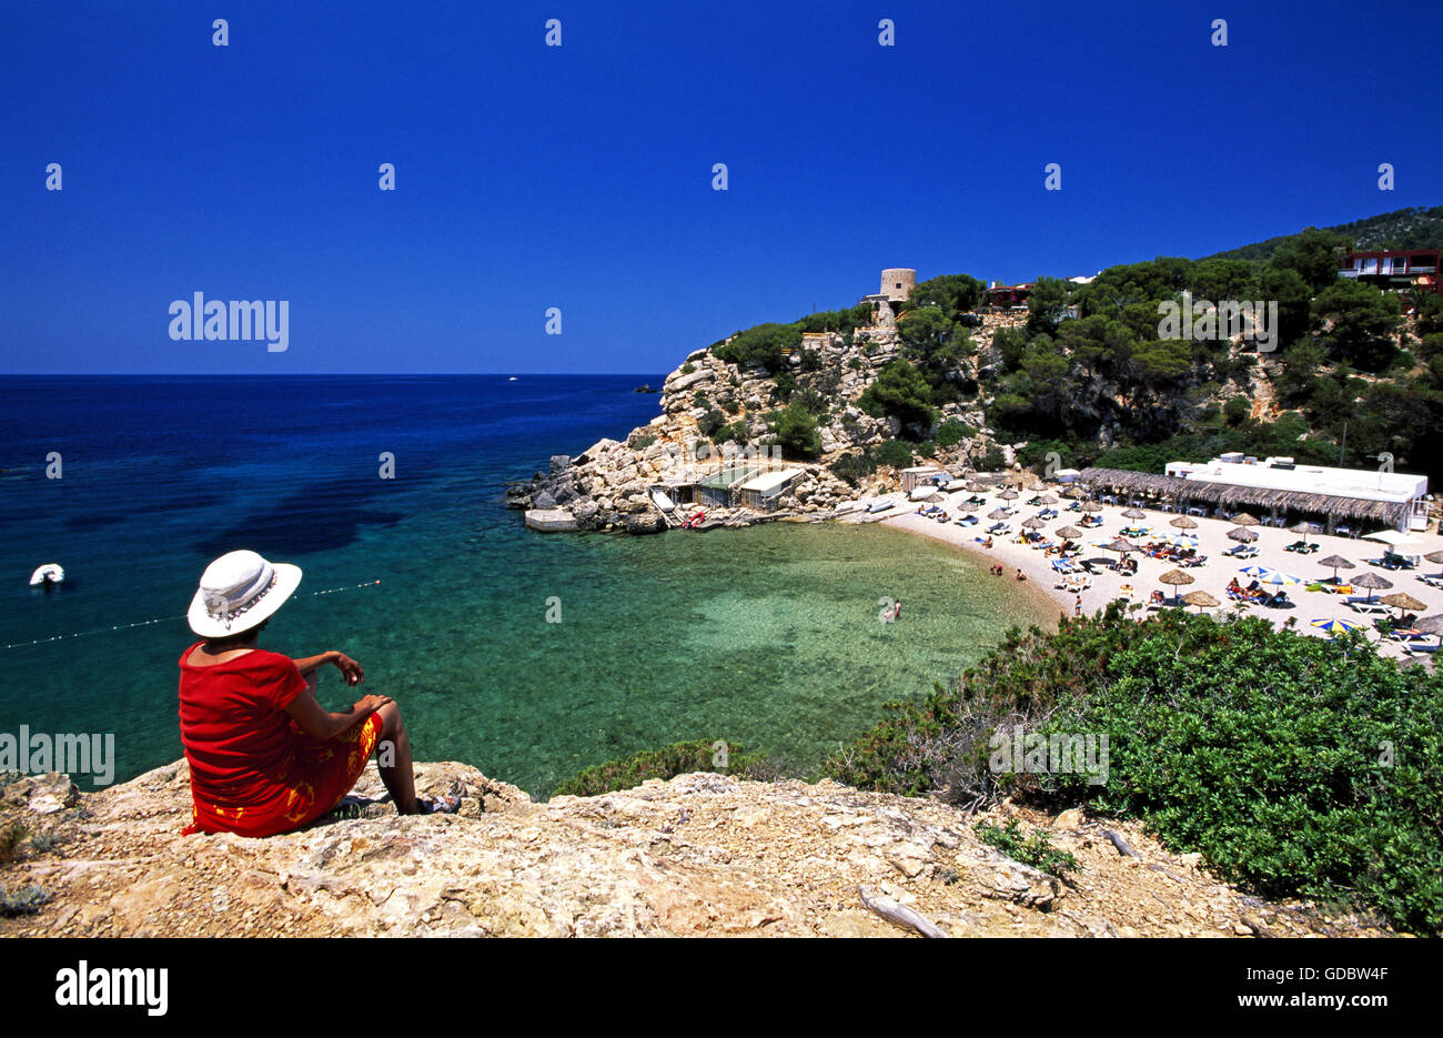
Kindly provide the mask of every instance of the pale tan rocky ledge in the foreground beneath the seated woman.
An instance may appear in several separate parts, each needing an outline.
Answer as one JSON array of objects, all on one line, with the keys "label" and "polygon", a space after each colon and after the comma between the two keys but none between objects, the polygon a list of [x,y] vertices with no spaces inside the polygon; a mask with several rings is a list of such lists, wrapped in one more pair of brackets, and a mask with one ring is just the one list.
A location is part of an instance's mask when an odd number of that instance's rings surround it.
[{"label": "pale tan rocky ledge in the foreground beneath the seated woman", "polygon": [[[968,813],[823,781],[717,774],[532,803],[462,764],[417,765],[453,816],[400,817],[372,765],[343,808],[264,840],[180,836],[183,762],[102,793],[25,778],[29,837],[0,868],[0,935],[838,935],[911,931],[859,891],[967,935],[1364,935],[1238,894],[1130,824],[1017,813],[1076,856],[1069,882],[981,843]],[[1006,806],[1001,813],[1012,813]]]}]

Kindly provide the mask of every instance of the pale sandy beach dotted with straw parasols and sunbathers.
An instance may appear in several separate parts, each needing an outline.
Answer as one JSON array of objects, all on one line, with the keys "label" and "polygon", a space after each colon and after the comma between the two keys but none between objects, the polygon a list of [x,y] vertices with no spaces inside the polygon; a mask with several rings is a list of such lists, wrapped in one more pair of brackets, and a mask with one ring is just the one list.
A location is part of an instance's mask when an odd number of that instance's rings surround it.
[{"label": "pale sandy beach dotted with straw parasols and sunbathers", "polygon": [[[1212,609],[1215,615],[1222,615],[1225,612],[1244,612],[1250,616],[1263,616],[1271,621],[1276,627],[1284,627],[1291,619],[1293,629],[1326,638],[1328,634],[1317,627],[1313,627],[1313,621],[1319,619],[1342,619],[1352,624],[1359,624],[1368,631],[1371,641],[1380,645],[1380,650],[1388,655],[1404,658],[1404,647],[1401,642],[1384,640],[1374,628],[1374,621],[1382,614],[1367,615],[1356,612],[1348,605],[1348,595],[1333,593],[1332,590],[1307,590],[1307,585],[1329,580],[1333,575],[1330,567],[1319,564],[1320,559],[1328,556],[1341,556],[1354,563],[1355,569],[1342,569],[1338,576],[1341,582],[1346,583],[1349,579],[1356,579],[1364,573],[1374,573],[1391,582],[1391,588],[1378,589],[1372,592],[1374,599],[1380,599],[1388,595],[1395,595],[1398,592],[1405,592],[1413,598],[1424,603],[1423,609],[1416,609],[1417,616],[1431,616],[1433,614],[1443,612],[1443,589],[1434,588],[1423,580],[1417,579],[1417,575],[1431,575],[1437,576],[1443,572],[1443,566],[1436,563],[1421,562],[1417,569],[1407,570],[1388,570],[1381,566],[1372,566],[1368,563],[1369,559],[1378,559],[1384,554],[1385,546],[1380,541],[1352,538],[1352,537],[1330,537],[1326,534],[1310,534],[1307,540],[1316,541],[1319,544],[1317,551],[1312,554],[1299,554],[1287,551],[1286,546],[1302,540],[1302,536],[1286,528],[1254,525],[1251,527],[1257,533],[1257,540],[1253,541],[1253,547],[1257,549],[1257,556],[1250,559],[1234,559],[1225,553],[1238,546],[1237,541],[1228,538],[1228,531],[1234,528],[1234,524],[1222,518],[1211,517],[1190,517],[1198,525],[1195,528],[1182,530],[1172,525],[1172,520],[1176,518],[1173,513],[1157,511],[1156,508],[1143,508],[1147,514],[1146,518],[1126,518],[1124,511],[1130,508],[1127,504],[1120,505],[1102,505],[1101,511],[1094,513],[1102,520],[1102,524],[1084,531],[1084,537],[1076,538],[1081,546],[1081,554],[1078,562],[1088,563],[1091,569],[1091,588],[1076,592],[1058,588],[1058,575],[1052,569],[1052,562],[1056,556],[1046,554],[1042,549],[1033,549],[1027,544],[1019,543],[1017,534],[1023,531],[1020,525],[1025,520],[1036,515],[1042,511],[1043,505],[1027,505],[1026,501],[1032,500],[1035,494],[1052,494],[1058,497],[1055,488],[1046,491],[1020,491],[1017,500],[1003,501],[996,492],[983,492],[978,497],[984,500],[984,504],[970,513],[958,508],[961,501],[973,497],[968,491],[958,491],[954,494],[939,494],[938,501],[928,502],[937,504],[949,514],[949,521],[938,523],[934,518],[926,518],[916,514],[918,504],[900,500],[899,511],[890,513],[882,521],[887,525],[909,530],[924,537],[932,537],[937,540],[955,544],[961,549],[973,551],[978,556],[986,556],[994,560],[997,564],[1004,567],[1004,573],[999,580],[1016,580],[1016,573],[1020,569],[1026,576],[1026,582],[1045,590],[1058,603],[1059,609],[1072,615],[1075,609],[1075,602],[1078,595],[1082,598],[1082,612],[1092,614],[1102,609],[1108,602],[1123,596],[1124,586],[1131,588],[1130,601],[1139,603],[1134,615],[1146,615],[1146,606],[1153,590],[1160,590],[1167,596],[1169,605],[1173,602],[1175,593],[1188,595],[1195,590],[1205,590],[1218,599],[1219,605]],[[1052,520],[1045,520],[1045,525],[1039,530],[1043,536],[1052,537],[1052,531],[1065,525],[1078,525],[1078,520],[1082,518],[1084,513],[1068,511],[1071,500],[1059,498],[1058,504],[1051,505],[1058,510],[1058,517]],[[1012,515],[1007,523],[1012,525],[1012,531],[1001,536],[993,537],[993,547],[987,549],[980,541],[987,538],[987,527],[990,527],[994,520],[987,518],[988,513],[996,508],[1012,505],[1016,507],[1016,514]],[[900,511],[900,510],[906,511]],[[962,515],[977,515],[977,525],[957,525],[951,520],[960,518]],[[1167,537],[1172,534],[1188,534],[1198,538],[1198,553],[1205,556],[1208,562],[1198,567],[1180,567],[1177,563],[1166,559],[1147,557],[1144,553],[1137,551],[1130,557],[1137,560],[1137,573],[1133,576],[1126,576],[1123,573],[1111,569],[1113,563],[1117,560],[1115,551],[1108,551],[1102,547],[1095,547],[1097,541],[1111,541],[1121,534],[1124,527],[1144,527],[1149,530],[1150,536],[1128,537],[1134,544],[1147,544],[1153,537]],[[1404,549],[1407,554],[1424,556],[1431,551],[1443,550],[1443,537],[1436,533],[1410,533],[1408,537],[1420,544],[1420,547]],[[1245,566],[1266,566],[1268,569],[1280,570],[1290,576],[1302,579],[1302,583],[1287,586],[1289,599],[1294,605],[1281,608],[1268,608],[1257,603],[1241,605],[1232,602],[1227,596],[1227,585],[1231,577],[1237,577],[1242,586],[1247,586],[1253,577],[1241,572]],[[1193,577],[1193,583],[1185,585],[1182,588],[1172,588],[1166,583],[1160,583],[1157,577],[1169,570],[1182,569]],[[1273,590],[1270,588],[1270,590]],[[1367,596],[1369,592],[1365,588],[1354,589],[1354,595]],[[1183,606],[1196,611],[1196,606]],[[1398,609],[1390,608],[1387,611],[1388,616],[1397,616]],[[1437,645],[1439,638],[1436,635],[1429,635],[1421,641],[1423,645]]]}]

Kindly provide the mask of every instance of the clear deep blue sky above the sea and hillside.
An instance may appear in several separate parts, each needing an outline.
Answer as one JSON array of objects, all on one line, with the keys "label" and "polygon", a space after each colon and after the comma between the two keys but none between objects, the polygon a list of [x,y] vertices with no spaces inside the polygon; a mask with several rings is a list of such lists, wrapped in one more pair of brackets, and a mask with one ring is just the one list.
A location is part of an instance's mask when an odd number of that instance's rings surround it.
[{"label": "clear deep blue sky above the sea and hillside", "polygon": [[[1066,277],[1443,201],[1436,7],[1254,7],[7,4],[0,372],[659,372],[882,267]],[[289,300],[289,348],[172,341],[198,290]]]}]

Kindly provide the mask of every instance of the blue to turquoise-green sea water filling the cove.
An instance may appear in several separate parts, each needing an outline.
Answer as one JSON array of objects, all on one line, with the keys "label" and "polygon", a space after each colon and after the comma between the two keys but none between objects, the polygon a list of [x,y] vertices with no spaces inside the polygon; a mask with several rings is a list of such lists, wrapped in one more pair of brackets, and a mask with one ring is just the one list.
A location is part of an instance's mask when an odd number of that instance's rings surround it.
[{"label": "blue to turquoise-green sea water filling the cove", "polygon": [[[0,380],[0,644],[165,618],[0,650],[0,732],[114,732],[117,781],[177,759],[180,616],[238,547],[304,570],[263,647],[349,653],[362,692],[401,703],[420,759],[538,795],[694,738],[814,774],[883,702],[1038,619],[978,563],[877,527],[527,531],[505,482],[645,424],[645,381],[659,377]],[[26,586],[46,562],[66,570],[51,593]],[[877,622],[880,595],[903,598],[903,622]],[[328,668],[322,702],[348,693]]]}]

